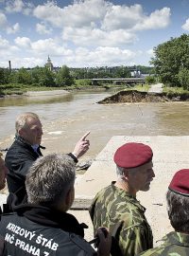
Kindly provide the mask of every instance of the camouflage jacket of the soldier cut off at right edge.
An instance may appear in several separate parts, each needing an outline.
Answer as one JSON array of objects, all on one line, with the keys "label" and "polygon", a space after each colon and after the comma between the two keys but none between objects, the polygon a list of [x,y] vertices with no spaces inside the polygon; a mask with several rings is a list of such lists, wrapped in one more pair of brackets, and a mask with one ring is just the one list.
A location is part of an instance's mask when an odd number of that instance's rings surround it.
[{"label": "camouflage jacket of the soldier cut off at right edge", "polygon": [[188,256],[189,255],[189,235],[180,232],[170,232],[163,237],[163,245],[148,249],[139,255],[144,256]]}]

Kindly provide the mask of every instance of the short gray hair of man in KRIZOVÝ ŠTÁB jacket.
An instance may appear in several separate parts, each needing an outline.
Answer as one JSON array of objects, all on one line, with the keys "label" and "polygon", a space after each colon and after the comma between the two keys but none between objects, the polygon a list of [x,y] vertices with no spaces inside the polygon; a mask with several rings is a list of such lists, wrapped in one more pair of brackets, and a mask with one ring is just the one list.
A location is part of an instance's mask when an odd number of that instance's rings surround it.
[{"label": "short gray hair of man in KRIZOV\u00dd \u0160T\u00c1B jacket", "polygon": [[74,187],[76,164],[69,155],[50,154],[38,158],[26,175],[28,203],[59,205]]}]

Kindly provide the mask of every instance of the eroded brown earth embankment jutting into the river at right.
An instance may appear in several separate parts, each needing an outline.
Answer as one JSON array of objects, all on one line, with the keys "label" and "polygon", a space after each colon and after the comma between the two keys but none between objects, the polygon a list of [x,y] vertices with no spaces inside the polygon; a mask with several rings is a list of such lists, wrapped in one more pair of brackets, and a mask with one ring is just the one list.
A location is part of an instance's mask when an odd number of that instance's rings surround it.
[{"label": "eroded brown earth embankment jutting into the river at right", "polygon": [[99,104],[120,103],[120,102],[165,102],[165,101],[188,101],[189,96],[186,94],[165,94],[165,93],[147,93],[136,90],[120,91],[102,101]]}]

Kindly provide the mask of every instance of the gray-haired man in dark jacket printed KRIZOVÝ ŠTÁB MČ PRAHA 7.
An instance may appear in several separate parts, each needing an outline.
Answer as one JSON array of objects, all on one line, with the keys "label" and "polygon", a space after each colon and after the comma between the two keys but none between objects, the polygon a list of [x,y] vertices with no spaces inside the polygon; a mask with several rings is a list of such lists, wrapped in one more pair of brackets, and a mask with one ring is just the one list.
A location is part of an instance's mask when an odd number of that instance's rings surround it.
[{"label": "gray-haired man in dark jacket printed KRIZOV\u00dd \u0160T\u00c1B M\u010c PRAHA 7", "polygon": [[[69,155],[46,155],[38,158],[26,175],[28,203],[4,214],[0,234],[5,237],[9,255],[108,256],[109,232],[97,230],[97,252],[83,237],[83,224],[67,213],[74,197],[76,165]],[[10,194],[11,196],[12,194]],[[13,199],[15,198],[13,194]]]}]

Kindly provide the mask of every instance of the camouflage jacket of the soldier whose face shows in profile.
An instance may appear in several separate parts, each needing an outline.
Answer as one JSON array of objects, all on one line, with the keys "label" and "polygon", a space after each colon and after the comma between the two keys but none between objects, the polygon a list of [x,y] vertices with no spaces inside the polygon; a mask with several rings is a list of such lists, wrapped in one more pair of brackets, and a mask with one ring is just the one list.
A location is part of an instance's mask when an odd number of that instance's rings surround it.
[{"label": "camouflage jacket of the soldier whose face shows in profile", "polygon": [[145,208],[133,195],[112,185],[95,195],[90,208],[94,232],[107,227],[113,236],[112,247],[120,248],[119,254],[134,256],[153,247],[153,236],[145,217]]}]

